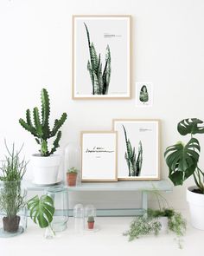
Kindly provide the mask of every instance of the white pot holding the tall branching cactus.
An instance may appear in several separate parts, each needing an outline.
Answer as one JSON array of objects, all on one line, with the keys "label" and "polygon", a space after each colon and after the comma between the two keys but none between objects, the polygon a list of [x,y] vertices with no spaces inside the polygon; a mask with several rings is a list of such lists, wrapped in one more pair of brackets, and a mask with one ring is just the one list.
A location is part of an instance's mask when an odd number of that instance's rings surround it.
[{"label": "white pot holding the tall branching cactus", "polygon": [[34,183],[38,185],[51,185],[58,182],[58,173],[61,163],[59,154],[41,156],[33,154],[31,165],[33,167]]}]

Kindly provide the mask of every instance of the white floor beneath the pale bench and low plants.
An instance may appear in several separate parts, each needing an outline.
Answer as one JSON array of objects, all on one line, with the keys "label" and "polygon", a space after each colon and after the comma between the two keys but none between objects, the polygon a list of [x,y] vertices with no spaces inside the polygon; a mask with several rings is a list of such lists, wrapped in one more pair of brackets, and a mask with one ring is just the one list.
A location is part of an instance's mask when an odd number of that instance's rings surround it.
[{"label": "white floor beneath the pale bench and low plants", "polygon": [[0,256],[33,255],[202,255],[204,231],[196,230],[188,222],[179,249],[174,234],[149,236],[128,242],[123,232],[129,227],[131,217],[103,217],[97,219],[100,227],[96,233],[76,235],[73,233],[73,218],[68,221],[65,232],[58,233],[54,240],[43,238],[44,230],[30,220],[26,233],[10,239],[0,239]]}]

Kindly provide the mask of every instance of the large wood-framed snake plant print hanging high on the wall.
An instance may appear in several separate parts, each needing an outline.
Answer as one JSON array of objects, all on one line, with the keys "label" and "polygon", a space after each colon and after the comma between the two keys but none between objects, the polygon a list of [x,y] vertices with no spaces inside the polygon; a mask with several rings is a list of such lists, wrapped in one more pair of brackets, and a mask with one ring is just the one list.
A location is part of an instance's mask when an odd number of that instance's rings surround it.
[{"label": "large wood-framed snake plant print hanging high on the wall", "polygon": [[131,16],[73,16],[73,99],[131,97]]}]

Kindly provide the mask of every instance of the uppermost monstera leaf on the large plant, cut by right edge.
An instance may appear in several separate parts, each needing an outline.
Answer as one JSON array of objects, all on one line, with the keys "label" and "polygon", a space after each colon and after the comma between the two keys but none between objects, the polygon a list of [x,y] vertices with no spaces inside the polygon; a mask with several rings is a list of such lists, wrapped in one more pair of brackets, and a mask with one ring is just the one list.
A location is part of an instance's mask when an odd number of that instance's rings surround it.
[{"label": "uppermost monstera leaf on the large plant, cut by right edge", "polygon": [[180,121],[177,129],[180,135],[204,134],[204,126],[199,126],[201,123],[203,123],[203,121],[200,119],[188,118]]}]

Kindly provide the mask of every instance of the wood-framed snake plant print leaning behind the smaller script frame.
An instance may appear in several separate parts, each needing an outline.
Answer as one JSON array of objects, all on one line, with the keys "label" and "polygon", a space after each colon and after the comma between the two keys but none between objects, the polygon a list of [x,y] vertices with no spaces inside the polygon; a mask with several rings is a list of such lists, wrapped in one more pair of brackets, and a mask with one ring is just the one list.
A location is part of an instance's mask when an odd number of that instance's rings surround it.
[{"label": "wood-framed snake plant print leaning behind the smaller script frame", "polygon": [[113,120],[118,132],[118,181],[159,180],[158,120]]}]

